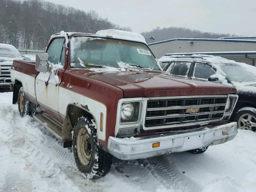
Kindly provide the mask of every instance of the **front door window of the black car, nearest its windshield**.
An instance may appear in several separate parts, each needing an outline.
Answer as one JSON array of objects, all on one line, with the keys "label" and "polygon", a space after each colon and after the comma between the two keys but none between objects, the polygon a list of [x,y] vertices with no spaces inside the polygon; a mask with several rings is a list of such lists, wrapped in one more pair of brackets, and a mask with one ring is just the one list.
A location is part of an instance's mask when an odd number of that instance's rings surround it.
[{"label": "front door window of the black car, nearest its windshield", "polygon": [[196,63],[193,77],[208,79],[211,75],[214,75],[215,73],[216,72],[211,66],[204,63]]}]

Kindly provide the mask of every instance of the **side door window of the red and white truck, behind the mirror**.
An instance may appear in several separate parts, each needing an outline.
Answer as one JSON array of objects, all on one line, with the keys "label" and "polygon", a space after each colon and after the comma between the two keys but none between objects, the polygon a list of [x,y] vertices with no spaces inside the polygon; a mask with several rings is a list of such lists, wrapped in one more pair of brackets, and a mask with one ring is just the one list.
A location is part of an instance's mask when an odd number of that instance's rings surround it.
[{"label": "side door window of the red and white truck, behind the mirror", "polygon": [[[62,57],[62,53],[64,54],[64,38],[57,38],[54,39],[48,50],[47,53],[49,55],[49,61],[53,64],[59,64],[60,63],[60,58]],[[63,59],[62,59],[63,60]],[[64,63],[62,63],[64,65]]]}]

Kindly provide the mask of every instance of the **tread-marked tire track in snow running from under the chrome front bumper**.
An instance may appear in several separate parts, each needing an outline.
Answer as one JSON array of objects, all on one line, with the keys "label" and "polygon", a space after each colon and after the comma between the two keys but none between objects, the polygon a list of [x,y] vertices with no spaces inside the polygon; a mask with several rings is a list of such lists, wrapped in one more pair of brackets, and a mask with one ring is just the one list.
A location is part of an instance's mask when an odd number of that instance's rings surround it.
[{"label": "tread-marked tire track in snow running from under the chrome front bumper", "polygon": [[202,188],[194,180],[180,172],[166,155],[139,160],[166,189],[180,192],[200,192]]}]

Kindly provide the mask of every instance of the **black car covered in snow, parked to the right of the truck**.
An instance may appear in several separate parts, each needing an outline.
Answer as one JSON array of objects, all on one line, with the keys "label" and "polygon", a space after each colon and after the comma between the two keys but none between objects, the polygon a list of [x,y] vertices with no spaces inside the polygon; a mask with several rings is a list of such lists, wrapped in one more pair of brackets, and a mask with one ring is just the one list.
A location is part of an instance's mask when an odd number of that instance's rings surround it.
[{"label": "black car covered in snow, parked to the right of the truck", "polygon": [[230,120],[238,128],[256,131],[256,67],[207,55],[164,56],[161,61],[168,62],[164,71],[169,74],[236,87],[239,98]]}]

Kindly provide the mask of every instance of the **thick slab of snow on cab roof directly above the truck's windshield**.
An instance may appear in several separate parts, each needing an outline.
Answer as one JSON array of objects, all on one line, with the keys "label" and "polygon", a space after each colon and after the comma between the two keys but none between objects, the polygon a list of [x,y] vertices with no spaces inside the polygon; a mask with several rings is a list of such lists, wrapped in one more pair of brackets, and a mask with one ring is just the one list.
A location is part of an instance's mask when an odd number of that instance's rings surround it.
[{"label": "thick slab of snow on cab roof directly above the truck's windshield", "polygon": [[141,42],[141,43],[147,44],[145,38],[141,34],[128,32],[128,31],[107,29],[107,30],[97,31],[96,35],[98,35],[100,37],[111,37],[114,39],[136,41],[136,42]]}]

